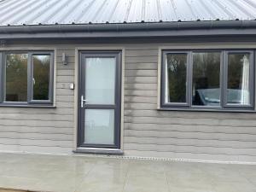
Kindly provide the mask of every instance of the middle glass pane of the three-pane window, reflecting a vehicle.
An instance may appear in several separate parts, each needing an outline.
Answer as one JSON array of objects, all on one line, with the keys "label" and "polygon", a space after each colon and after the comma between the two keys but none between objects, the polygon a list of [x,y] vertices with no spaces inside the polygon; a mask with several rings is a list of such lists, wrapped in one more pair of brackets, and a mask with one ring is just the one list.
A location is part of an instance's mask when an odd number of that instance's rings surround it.
[{"label": "middle glass pane of the three-pane window, reflecting a vehicle", "polygon": [[220,105],[219,75],[219,52],[193,53],[193,105]]}]

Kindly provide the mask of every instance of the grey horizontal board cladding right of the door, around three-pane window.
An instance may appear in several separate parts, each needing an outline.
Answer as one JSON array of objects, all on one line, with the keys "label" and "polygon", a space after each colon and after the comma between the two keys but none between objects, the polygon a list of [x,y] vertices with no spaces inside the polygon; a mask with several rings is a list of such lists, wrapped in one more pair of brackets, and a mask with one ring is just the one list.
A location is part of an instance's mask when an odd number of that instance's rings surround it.
[{"label": "grey horizontal board cladding right of the door, around three-pane window", "polygon": [[[255,113],[157,110],[159,46],[129,45],[125,50],[136,53],[125,57],[125,154],[255,161]],[[153,61],[143,61],[147,56]]]}]

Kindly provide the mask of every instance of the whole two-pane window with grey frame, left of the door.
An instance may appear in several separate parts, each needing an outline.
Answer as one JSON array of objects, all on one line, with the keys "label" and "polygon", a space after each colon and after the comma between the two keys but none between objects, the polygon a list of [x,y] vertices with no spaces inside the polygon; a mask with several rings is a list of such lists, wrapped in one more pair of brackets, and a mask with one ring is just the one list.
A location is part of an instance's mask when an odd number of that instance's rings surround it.
[{"label": "whole two-pane window with grey frame, left of the door", "polygon": [[0,105],[52,105],[53,53],[0,52]]}]

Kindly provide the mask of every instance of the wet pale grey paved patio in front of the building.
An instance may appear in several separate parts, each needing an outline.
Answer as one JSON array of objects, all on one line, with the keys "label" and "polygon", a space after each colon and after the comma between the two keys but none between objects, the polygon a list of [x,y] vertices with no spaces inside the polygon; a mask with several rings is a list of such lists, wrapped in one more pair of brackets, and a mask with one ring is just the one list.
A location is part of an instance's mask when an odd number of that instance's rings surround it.
[{"label": "wet pale grey paved patio in front of the building", "polygon": [[[2,190],[1,190],[2,189]],[[256,192],[256,166],[0,154],[0,191]]]}]

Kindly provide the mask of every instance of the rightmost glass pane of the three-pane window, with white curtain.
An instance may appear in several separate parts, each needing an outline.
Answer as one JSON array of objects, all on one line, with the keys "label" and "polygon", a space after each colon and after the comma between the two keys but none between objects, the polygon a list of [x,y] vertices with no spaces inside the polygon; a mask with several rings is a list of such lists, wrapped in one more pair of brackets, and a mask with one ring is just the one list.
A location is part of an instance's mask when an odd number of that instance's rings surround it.
[{"label": "rightmost glass pane of the three-pane window, with white curtain", "polygon": [[249,54],[228,56],[228,104],[250,104],[250,61]]}]

